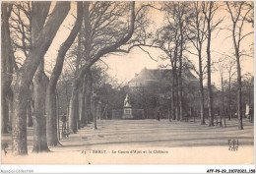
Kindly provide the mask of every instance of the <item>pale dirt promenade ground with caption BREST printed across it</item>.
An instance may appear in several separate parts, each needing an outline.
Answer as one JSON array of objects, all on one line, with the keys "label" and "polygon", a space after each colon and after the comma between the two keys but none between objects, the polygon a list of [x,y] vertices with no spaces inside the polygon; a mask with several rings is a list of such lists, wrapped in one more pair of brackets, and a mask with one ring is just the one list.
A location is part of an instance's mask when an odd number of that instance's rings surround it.
[{"label": "pale dirt promenade ground with caption BREST printed across it", "polygon": [[[46,164],[250,164],[254,161],[253,123],[226,120],[226,127],[200,125],[200,120],[97,120],[78,134],[61,139],[63,146],[51,152],[32,153],[32,129],[28,129],[27,156],[11,154],[11,135],[2,150],[2,163]],[[232,141],[238,141],[233,144]],[[238,148],[236,148],[238,147]]]}]

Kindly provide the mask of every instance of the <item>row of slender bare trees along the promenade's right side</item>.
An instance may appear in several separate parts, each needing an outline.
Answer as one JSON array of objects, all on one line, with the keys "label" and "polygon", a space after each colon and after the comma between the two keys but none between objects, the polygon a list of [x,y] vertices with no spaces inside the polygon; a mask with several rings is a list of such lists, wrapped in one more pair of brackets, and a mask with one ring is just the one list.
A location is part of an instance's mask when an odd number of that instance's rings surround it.
[{"label": "row of slender bare trees along the promenade's right side", "polygon": [[[170,60],[172,69],[172,115],[175,119],[182,119],[182,72],[183,69],[193,69],[199,77],[201,124],[205,124],[205,93],[203,81],[207,75],[207,96],[209,111],[209,126],[214,125],[213,113],[213,83],[211,75],[212,66],[215,64],[211,58],[212,35],[217,33],[224,18],[229,16],[230,35],[233,41],[234,52],[229,59],[235,56],[237,75],[237,115],[239,118],[239,129],[242,127],[242,100],[241,100],[241,66],[240,59],[246,56],[242,50],[242,41],[253,31],[245,31],[245,23],[253,23],[253,5],[249,2],[167,2],[160,9],[163,11],[166,21],[165,26],[157,31],[156,39],[148,46],[160,48]],[[218,12],[224,11],[226,16],[218,17]],[[228,24],[228,22],[227,22]],[[217,31],[215,31],[217,30]],[[246,44],[246,43],[243,43]],[[206,52],[206,65],[203,62],[204,51]],[[198,66],[186,58],[184,53],[198,57]],[[223,55],[222,55],[223,56]],[[225,56],[226,57],[226,56]],[[231,57],[231,58],[230,58]],[[164,56],[165,58],[165,56]],[[230,72],[228,72],[230,74]],[[229,75],[230,76],[230,75]],[[230,79],[229,79],[230,84]],[[230,85],[229,85],[230,87]],[[222,87],[223,88],[223,87]],[[224,89],[222,89],[224,91]],[[230,98],[230,97],[229,97]]]}]

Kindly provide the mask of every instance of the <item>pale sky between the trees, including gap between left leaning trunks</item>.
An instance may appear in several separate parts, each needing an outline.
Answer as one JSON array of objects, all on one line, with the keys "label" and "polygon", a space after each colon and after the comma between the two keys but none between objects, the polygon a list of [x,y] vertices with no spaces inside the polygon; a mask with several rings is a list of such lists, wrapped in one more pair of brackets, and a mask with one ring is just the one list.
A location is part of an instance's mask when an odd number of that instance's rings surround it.
[{"label": "pale sky between the trees, including gap between left leaning trunks", "polygon": [[[74,7],[74,6],[73,6]],[[50,46],[49,50],[47,51],[45,55],[45,64],[48,66],[46,69],[49,71],[52,69],[55,60],[57,51],[59,48],[59,45],[65,40],[65,38],[69,34],[70,26],[74,23],[74,17],[71,16],[71,13],[75,13],[75,9],[73,8],[70,11],[70,14],[68,15],[67,19],[65,19],[65,22],[61,26],[60,30],[57,32],[57,35],[55,36],[52,45]],[[211,51],[212,51],[212,61],[218,61],[220,58],[224,58],[223,54],[231,55],[233,54],[233,42],[230,37],[230,31],[224,28],[229,28],[230,25],[230,19],[228,14],[224,11],[224,9],[220,10],[216,15],[216,20],[224,18],[224,22],[220,25],[220,28],[223,29],[217,29],[213,32],[213,38],[212,38],[212,45],[211,45]],[[163,20],[163,14],[161,14],[158,10],[152,9],[149,13],[149,18],[152,21],[152,26],[150,28],[152,29],[158,29],[161,25],[164,25]],[[251,25],[245,26],[245,31],[253,30]],[[249,44],[253,42],[254,35],[251,34],[246,39],[243,40],[243,47],[242,49],[248,49]],[[206,45],[205,45],[206,46]],[[102,57],[101,60],[104,61],[108,65],[107,73],[115,77],[119,83],[128,83],[132,78],[134,78],[135,74],[140,73],[140,71],[143,68],[148,69],[157,69],[160,67],[160,65],[166,65],[168,64],[168,61],[162,61],[160,60],[160,55],[163,53],[156,48],[147,48],[151,56],[155,59],[152,60],[151,57],[142,51],[140,48],[134,48],[129,54],[121,54],[121,55],[107,55],[105,57]],[[194,52],[193,49],[191,49],[192,52]],[[204,57],[206,58],[206,50],[204,51]],[[189,53],[185,52],[185,55],[195,63],[196,67],[198,64],[197,57],[190,55]],[[224,58],[225,60],[227,58]],[[156,61],[157,60],[157,61]],[[227,61],[227,60],[226,60]],[[253,58],[242,58],[241,59],[241,68],[242,68],[242,74],[245,73],[254,73],[254,61]],[[195,73],[194,73],[195,74]],[[195,74],[196,75],[196,74]],[[226,76],[224,77],[226,78]],[[215,71],[212,73],[212,82],[216,86],[220,87],[220,74],[218,71]],[[205,80],[205,83],[207,81]]]}]

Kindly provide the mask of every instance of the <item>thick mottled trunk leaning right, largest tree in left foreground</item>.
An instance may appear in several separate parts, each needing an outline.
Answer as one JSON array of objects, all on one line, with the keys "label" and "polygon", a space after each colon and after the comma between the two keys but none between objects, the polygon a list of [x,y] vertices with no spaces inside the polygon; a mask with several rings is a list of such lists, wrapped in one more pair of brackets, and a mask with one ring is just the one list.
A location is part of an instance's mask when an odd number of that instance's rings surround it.
[{"label": "thick mottled trunk leaning right, largest tree in left foreground", "polygon": [[[39,6],[38,4],[41,5]],[[46,21],[49,6],[50,2],[32,2],[32,29],[36,28],[39,24],[44,25],[41,25],[42,29],[39,29],[39,32],[36,33],[35,39],[32,41],[32,48],[29,55],[24,61],[23,66],[17,72],[17,80],[14,87],[15,109],[12,124],[12,147],[15,155],[28,153],[26,112],[27,96],[32,83],[32,78],[70,9],[70,3],[57,2]],[[41,16],[42,14],[46,14],[46,17]]]}]

